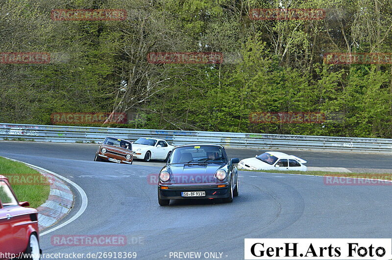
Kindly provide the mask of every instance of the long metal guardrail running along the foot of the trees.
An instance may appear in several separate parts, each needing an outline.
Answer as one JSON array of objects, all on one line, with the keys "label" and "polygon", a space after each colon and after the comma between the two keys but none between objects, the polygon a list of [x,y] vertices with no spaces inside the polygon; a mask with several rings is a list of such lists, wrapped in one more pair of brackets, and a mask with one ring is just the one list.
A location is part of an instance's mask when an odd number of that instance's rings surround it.
[{"label": "long metal guardrail running along the foot of the trees", "polygon": [[130,141],[155,137],[174,145],[217,143],[234,148],[392,153],[392,139],[0,123],[0,140],[99,142],[106,136]]}]

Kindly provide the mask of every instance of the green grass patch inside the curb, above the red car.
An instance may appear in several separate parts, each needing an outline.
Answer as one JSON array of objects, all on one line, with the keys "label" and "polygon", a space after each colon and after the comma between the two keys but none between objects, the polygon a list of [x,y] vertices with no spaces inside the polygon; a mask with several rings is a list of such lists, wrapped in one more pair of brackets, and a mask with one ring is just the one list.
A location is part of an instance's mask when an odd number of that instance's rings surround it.
[{"label": "green grass patch inside the curb, above the red car", "polygon": [[18,200],[28,201],[30,207],[37,208],[48,199],[49,182],[25,164],[0,157],[0,174],[8,178]]}]

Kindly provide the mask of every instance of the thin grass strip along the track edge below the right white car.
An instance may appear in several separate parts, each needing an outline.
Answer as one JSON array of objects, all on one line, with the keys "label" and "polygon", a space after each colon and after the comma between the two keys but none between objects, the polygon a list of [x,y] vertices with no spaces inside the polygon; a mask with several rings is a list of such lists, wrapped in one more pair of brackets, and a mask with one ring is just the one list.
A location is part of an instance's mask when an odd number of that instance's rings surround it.
[{"label": "thin grass strip along the track edge below the right white car", "polygon": [[350,178],[367,178],[367,179],[383,179],[392,180],[392,173],[375,173],[375,172],[335,172],[335,171],[296,171],[296,170],[245,170],[242,171],[256,171],[256,172],[272,172],[272,173],[286,173],[286,174],[301,174],[301,175],[318,175],[318,176],[339,176]]}]

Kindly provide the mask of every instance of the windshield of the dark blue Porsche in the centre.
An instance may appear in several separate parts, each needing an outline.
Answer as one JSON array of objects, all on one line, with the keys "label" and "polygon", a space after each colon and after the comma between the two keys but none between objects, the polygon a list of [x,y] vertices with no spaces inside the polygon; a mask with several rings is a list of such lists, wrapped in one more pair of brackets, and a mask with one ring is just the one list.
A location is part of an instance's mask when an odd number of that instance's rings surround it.
[{"label": "windshield of the dark blue Porsche in the centre", "polygon": [[178,147],[173,150],[170,164],[227,163],[223,149],[215,145]]}]

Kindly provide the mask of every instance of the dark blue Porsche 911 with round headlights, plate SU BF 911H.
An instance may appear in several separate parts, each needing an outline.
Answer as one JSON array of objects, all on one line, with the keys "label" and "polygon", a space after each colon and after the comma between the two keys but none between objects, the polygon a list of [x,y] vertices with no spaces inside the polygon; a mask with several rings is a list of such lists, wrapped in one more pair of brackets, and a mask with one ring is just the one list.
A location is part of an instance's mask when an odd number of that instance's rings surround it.
[{"label": "dark blue Porsche 911 with round headlights, plate SU BF 911H", "polygon": [[239,159],[229,160],[223,146],[186,144],[173,149],[158,178],[158,202],[171,199],[215,199],[232,202],[238,196]]}]

